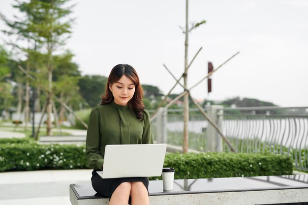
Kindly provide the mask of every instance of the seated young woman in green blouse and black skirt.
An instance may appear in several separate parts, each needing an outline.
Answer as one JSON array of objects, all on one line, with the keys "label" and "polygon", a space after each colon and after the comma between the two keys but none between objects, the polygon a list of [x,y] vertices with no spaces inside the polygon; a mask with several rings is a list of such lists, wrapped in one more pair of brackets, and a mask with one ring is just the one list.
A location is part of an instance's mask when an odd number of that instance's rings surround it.
[{"label": "seated young woman in green blouse and black skirt", "polygon": [[119,64],[110,72],[100,105],[90,114],[87,165],[93,169],[93,189],[109,197],[109,205],[149,205],[147,177],[103,179],[96,173],[103,169],[106,145],[153,144],[150,115],[142,97],[143,89],[136,70],[130,65]]}]

